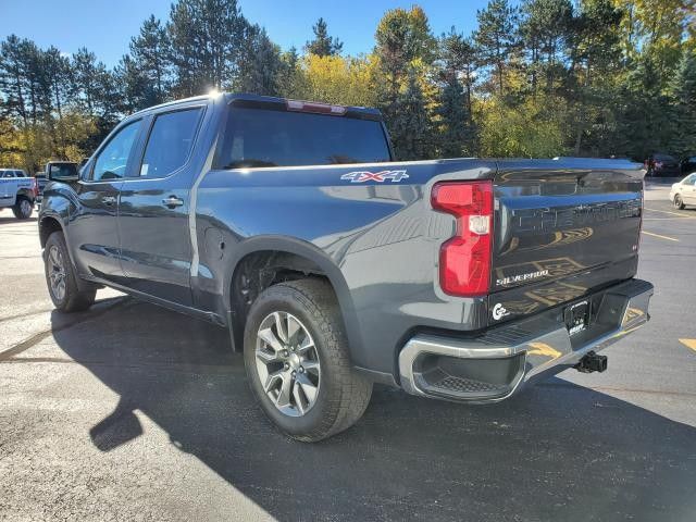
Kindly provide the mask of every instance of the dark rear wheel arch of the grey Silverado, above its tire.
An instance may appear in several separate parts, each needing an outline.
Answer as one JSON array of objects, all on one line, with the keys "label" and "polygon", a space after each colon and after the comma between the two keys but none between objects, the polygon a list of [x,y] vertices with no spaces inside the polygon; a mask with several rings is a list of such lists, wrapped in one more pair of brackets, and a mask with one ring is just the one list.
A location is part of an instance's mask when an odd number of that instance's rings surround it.
[{"label": "dark rear wheel arch of the grey Silverado, above its tire", "polygon": [[[235,256],[231,260],[225,277],[225,303],[228,307],[227,321],[232,328],[235,349],[241,350],[244,336],[244,322],[246,311],[239,306],[239,293],[245,288],[239,286],[241,275],[251,263],[251,270],[258,269],[258,263],[269,269],[266,274],[259,274],[261,284],[258,293],[248,296],[248,307],[251,306],[258,294],[269,286],[288,278],[323,277],[332,286],[340,315],[348,336],[349,351],[361,343],[360,328],[352,306],[350,290],[343,272],[334,260],[319,247],[311,243],[286,236],[254,237],[243,241],[235,248]],[[295,276],[293,275],[295,274]],[[279,279],[278,279],[279,276]],[[263,281],[265,278],[265,281]]]}]

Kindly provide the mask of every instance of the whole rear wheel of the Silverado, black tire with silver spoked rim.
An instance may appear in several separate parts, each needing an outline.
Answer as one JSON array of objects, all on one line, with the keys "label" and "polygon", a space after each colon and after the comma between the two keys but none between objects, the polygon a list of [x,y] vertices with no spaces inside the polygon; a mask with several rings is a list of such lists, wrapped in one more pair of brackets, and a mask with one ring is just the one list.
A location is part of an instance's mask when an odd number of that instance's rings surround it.
[{"label": "whole rear wheel of the Silverado, black tire with silver spoked rim", "polygon": [[370,402],[372,383],[350,364],[338,303],[324,281],[264,290],[247,318],[244,356],[261,408],[298,440],[350,427]]}]

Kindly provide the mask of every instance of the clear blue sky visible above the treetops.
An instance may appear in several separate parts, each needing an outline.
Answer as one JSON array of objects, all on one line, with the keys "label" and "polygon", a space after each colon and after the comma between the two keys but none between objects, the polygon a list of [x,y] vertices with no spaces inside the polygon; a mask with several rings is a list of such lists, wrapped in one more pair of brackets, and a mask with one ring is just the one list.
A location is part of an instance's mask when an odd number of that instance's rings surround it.
[{"label": "clear blue sky visible above the treetops", "polygon": [[[112,66],[128,49],[130,37],[150,14],[169,16],[171,0],[0,0],[0,38],[11,34],[30,38],[40,47],[53,45],[73,53],[87,47]],[[284,49],[298,49],[311,37],[311,27],[323,16],[332,36],[344,42],[344,52],[369,52],[374,29],[387,9],[418,3],[436,35],[452,25],[469,34],[476,25],[476,9],[487,0],[239,0],[241,12],[266,28]]]}]

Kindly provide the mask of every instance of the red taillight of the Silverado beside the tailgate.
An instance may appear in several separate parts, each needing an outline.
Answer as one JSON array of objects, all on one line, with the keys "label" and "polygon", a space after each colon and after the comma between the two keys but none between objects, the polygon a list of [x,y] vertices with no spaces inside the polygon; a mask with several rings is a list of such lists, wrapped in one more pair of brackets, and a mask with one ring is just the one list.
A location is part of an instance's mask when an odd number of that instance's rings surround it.
[{"label": "red taillight of the Silverado beside the tailgate", "polygon": [[457,235],[439,250],[439,285],[453,296],[485,296],[490,285],[493,182],[438,183],[433,209],[457,217]]}]

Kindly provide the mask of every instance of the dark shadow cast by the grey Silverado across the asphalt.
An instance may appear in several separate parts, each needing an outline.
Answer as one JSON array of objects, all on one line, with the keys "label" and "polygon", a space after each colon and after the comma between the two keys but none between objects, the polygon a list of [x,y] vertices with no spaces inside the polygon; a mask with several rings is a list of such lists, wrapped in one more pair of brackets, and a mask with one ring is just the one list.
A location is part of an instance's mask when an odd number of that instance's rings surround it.
[{"label": "dark shadow cast by the grey Silverado across the asphalt", "polygon": [[90,430],[97,448],[140,436],[139,410],[278,520],[688,520],[696,507],[696,430],[560,378],[486,407],[375,388],[356,426],[306,445],[256,406],[222,328],[124,299],[53,335],[120,396]]}]

